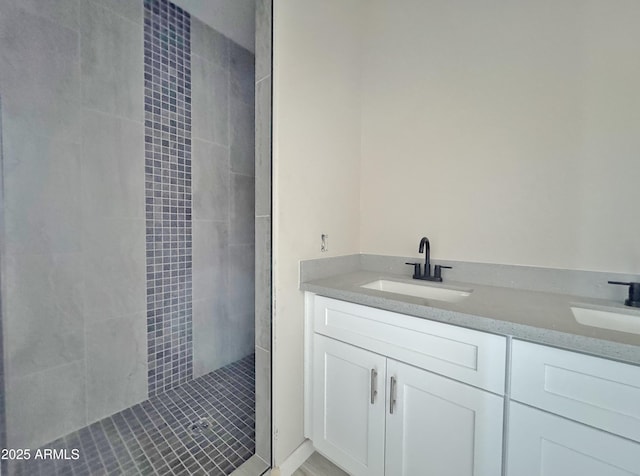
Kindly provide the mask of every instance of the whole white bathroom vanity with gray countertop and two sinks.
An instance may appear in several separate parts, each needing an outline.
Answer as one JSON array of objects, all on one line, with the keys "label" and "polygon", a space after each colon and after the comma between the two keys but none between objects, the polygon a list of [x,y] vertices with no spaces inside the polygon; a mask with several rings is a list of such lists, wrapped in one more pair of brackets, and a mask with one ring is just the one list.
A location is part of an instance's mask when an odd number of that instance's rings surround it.
[{"label": "whole white bathroom vanity with gray countertop and two sinks", "polygon": [[[455,283],[437,300],[403,283],[302,284],[317,451],[353,475],[640,475],[638,336],[594,337],[571,316],[575,296]],[[536,310],[560,330],[537,327]]]}]

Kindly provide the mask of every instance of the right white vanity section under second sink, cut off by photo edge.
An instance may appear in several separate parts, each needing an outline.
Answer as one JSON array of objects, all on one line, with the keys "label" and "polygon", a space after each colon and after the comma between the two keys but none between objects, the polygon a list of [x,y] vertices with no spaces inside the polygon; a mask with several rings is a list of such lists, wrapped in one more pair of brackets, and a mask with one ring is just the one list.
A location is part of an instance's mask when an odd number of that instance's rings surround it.
[{"label": "right white vanity section under second sink, cut off by photo edge", "polygon": [[511,369],[509,476],[640,476],[640,367],[514,340]]}]

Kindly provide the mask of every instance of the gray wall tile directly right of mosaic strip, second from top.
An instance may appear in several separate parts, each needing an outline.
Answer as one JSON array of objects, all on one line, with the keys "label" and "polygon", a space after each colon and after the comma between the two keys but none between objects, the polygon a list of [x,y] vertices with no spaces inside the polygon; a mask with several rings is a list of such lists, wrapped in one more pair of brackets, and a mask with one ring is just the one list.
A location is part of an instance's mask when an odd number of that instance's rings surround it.
[{"label": "gray wall tile directly right of mosaic strip, second from top", "polygon": [[229,69],[193,55],[194,139],[229,145]]}]

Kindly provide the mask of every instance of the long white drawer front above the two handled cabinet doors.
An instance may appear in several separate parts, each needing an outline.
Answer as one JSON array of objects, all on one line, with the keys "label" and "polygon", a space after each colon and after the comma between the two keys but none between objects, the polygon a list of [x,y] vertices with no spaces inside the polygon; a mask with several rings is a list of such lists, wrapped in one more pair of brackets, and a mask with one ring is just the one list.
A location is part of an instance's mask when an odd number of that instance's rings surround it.
[{"label": "long white drawer front above the two handled cabinet doors", "polygon": [[321,296],[314,332],[504,394],[506,339]]}]

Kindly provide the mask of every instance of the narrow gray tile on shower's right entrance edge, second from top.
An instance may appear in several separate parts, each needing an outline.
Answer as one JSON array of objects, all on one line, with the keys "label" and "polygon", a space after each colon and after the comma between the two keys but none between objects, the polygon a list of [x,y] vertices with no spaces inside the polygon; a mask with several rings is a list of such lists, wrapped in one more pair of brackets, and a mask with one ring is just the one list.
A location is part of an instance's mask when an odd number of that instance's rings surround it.
[{"label": "narrow gray tile on shower's right entrance edge, second from top", "polygon": [[256,84],[256,216],[271,215],[271,76]]}]

